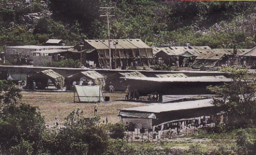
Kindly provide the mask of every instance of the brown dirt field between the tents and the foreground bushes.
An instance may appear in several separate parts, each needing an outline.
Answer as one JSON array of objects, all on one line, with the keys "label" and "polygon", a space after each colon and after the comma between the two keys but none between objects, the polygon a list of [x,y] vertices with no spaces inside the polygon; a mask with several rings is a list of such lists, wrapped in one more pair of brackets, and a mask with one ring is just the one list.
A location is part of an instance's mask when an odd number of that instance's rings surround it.
[{"label": "brown dirt field between the tents and the foreground bushes", "polygon": [[[132,101],[119,101],[124,99],[124,93],[103,94],[104,96],[109,96],[110,101],[99,104],[98,115],[101,116],[101,121],[106,121],[106,117],[108,117],[108,122],[119,122],[118,109],[148,105]],[[85,117],[94,116],[94,103],[74,103],[74,93],[72,92],[22,91],[22,96],[23,103],[39,107],[47,125],[54,125],[56,122],[55,118],[62,125],[64,118],[78,108],[84,111]]]}]

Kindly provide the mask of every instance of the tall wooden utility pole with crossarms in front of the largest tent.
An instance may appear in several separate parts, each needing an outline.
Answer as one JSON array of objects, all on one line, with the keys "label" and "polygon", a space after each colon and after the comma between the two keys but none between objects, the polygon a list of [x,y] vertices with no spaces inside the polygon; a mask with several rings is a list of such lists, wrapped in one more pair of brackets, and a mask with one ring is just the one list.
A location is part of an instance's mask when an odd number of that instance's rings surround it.
[{"label": "tall wooden utility pole with crossarms in front of the largest tent", "polygon": [[109,41],[109,66],[110,69],[112,69],[112,62],[111,62],[111,47],[110,47],[110,31],[109,31],[109,16],[115,16],[115,15],[110,15],[110,11],[114,9],[114,7],[100,7],[99,9],[101,9],[105,15],[100,15],[100,17],[106,16],[107,20],[108,20],[108,41]]}]

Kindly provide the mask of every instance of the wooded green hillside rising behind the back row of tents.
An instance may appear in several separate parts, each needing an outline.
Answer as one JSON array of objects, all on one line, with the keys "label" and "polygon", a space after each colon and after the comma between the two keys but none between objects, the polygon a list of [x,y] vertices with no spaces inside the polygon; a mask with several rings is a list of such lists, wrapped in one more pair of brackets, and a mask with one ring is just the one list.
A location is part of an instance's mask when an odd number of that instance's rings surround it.
[{"label": "wooded green hillside rising behind the back row of tents", "polygon": [[41,45],[49,38],[67,45],[81,38],[141,38],[148,45],[209,45],[252,48],[256,42],[256,2],[179,2],[160,0],[44,0],[0,2],[0,50],[9,45]]}]

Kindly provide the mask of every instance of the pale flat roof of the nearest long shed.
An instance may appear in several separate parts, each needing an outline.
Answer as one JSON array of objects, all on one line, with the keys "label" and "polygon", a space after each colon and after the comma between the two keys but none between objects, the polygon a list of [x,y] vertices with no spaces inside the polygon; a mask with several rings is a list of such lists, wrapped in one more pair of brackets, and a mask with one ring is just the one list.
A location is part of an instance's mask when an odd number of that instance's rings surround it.
[{"label": "pale flat roof of the nearest long shed", "polygon": [[167,111],[177,111],[177,110],[189,110],[196,108],[213,107],[213,99],[196,100],[196,101],[184,101],[178,103],[165,103],[165,104],[153,104],[143,107],[132,107],[123,108],[121,111],[138,111],[138,112],[167,112]]}]

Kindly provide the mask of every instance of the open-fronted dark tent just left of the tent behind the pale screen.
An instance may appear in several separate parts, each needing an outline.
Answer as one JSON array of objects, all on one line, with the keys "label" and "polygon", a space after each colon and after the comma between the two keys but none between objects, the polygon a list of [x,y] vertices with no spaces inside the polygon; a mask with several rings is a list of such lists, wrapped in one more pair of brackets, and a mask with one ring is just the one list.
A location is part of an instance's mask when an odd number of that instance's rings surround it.
[{"label": "open-fronted dark tent just left of the tent behind the pale screen", "polygon": [[32,89],[33,81],[36,82],[37,89],[46,89],[51,80],[52,84],[58,89],[64,87],[64,77],[51,69],[35,73],[27,78],[27,89]]}]

